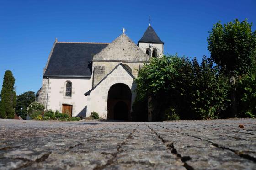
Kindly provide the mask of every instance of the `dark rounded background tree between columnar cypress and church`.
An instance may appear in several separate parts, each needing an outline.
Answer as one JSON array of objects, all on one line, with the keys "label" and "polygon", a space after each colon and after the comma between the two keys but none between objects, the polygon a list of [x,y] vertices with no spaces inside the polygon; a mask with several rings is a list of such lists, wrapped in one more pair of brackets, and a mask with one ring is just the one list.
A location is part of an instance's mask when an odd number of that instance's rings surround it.
[{"label": "dark rounded background tree between columnar cypress and church", "polygon": [[22,93],[21,95],[18,95],[16,100],[16,109],[15,109],[16,114],[20,116],[21,108],[22,108],[23,109],[22,118],[25,119],[27,115],[27,106],[29,106],[30,103],[35,101],[35,99],[36,97],[35,97],[34,91],[27,91]]}]

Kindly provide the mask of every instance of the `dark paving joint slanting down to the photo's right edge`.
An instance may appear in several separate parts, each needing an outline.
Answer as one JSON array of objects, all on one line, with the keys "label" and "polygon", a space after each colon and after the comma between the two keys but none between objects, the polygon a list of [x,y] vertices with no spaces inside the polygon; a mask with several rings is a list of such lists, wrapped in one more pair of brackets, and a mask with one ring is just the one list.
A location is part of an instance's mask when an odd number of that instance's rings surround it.
[{"label": "dark paving joint slanting down to the photo's right edge", "polygon": [[[156,126],[162,127],[162,126],[160,126],[160,125],[156,125]],[[162,128],[165,128],[165,127],[162,127]],[[165,129],[170,130],[169,128],[165,128]],[[181,132],[177,132],[177,133],[181,133]],[[243,154],[242,152],[235,151],[235,150],[233,150],[233,149],[230,149],[229,147],[221,147],[221,146],[219,146],[219,144],[213,143],[213,142],[210,141],[210,140],[202,139],[202,138],[199,138],[199,137],[197,137],[197,136],[192,136],[192,135],[189,135],[189,134],[187,134],[187,133],[181,133],[181,134],[186,134],[186,135],[189,136],[189,137],[197,138],[197,139],[200,139],[200,140],[202,140],[202,141],[207,141],[207,142],[211,143],[213,146],[215,146],[215,147],[217,147],[217,148],[220,148],[220,149],[223,149],[223,150],[232,151],[233,153],[235,153],[236,155],[240,156],[241,158],[245,158],[245,159],[247,159],[247,160],[251,160],[251,161],[253,161],[253,162],[256,162],[256,158],[254,158],[254,157],[252,157],[252,156],[250,156],[250,155],[248,155],[248,154]]]}]

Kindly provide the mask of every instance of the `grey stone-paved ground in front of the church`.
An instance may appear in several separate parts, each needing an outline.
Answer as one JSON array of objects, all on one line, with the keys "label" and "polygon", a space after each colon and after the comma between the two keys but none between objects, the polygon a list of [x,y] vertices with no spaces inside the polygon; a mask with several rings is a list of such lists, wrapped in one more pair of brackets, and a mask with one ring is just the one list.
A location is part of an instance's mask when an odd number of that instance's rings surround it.
[{"label": "grey stone-paved ground in front of the church", "polygon": [[0,119],[0,170],[5,169],[251,170],[256,169],[256,120]]}]

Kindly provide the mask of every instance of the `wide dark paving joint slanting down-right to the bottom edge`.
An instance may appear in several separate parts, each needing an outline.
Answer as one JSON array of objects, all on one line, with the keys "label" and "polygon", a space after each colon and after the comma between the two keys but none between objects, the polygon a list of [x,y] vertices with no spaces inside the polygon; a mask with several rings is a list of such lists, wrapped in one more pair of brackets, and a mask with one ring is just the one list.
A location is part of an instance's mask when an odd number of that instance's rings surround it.
[{"label": "wide dark paving joint slanting down-right to the bottom edge", "polygon": [[[166,144],[165,140],[157,133],[155,132],[152,128],[149,127],[145,122],[144,124],[153,132],[155,135],[162,141],[162,143],[166,146],[168,150],[171,151],[172,154],[174,154],[177,157],[177,160],[180,160],[183,163],[183,166],[187,170],[194,170],[191,166],[187,165],[186,161],[190,160],[190,157],[182,157],[181,154],[178,154],[177,150],[174,148],[173,143],[172,144]],[[161,127],[161,126],[160,126]]]}]

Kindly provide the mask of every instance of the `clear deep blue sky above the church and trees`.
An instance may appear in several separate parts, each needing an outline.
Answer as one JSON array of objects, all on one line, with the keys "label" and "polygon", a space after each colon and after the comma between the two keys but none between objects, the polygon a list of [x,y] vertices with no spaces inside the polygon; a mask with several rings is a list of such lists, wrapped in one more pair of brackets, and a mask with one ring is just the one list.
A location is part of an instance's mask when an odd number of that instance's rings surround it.
[{"label": "clear deep blue sky above the church and trees", "polygon": [[43,68],[58,41],[112,42],[122,33],[137,43],[149,24],[164,52],[208,55],[214,23],[248,18],[256,29],[256,0],[1,0],[0,90],[5,70],[21,94],[41,87]]}]

